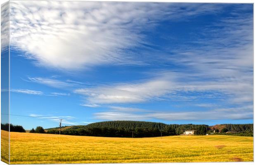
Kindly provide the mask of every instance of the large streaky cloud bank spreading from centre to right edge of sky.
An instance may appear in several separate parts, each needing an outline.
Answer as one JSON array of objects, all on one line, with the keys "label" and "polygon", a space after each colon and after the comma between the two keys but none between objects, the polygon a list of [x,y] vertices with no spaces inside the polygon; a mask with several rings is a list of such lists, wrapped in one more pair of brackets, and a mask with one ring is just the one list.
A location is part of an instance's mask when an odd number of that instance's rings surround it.
[{"label": "large streaky cloud bank spreading from centre to right edge of sky", "polygon": [[[236,12],[234,9],[232,13],[235,15]],[[140,82],[104,84],[74,92],[83,94],[88,103],[94,104],[214,98],[230,105],[251,105],[253,19],[251,13],[240,15],[201,27],[199,35],[206,39],[180,44],[179,49],[166,48],[165,51],[171,54],[156,53],[157,57],[153,52],[150,54],[153,62],[157,62],[153,66],[164,62],[179,66],[177,68],[149,71],[149,78]],[[190,96],[190,92],[194,94]]]}]

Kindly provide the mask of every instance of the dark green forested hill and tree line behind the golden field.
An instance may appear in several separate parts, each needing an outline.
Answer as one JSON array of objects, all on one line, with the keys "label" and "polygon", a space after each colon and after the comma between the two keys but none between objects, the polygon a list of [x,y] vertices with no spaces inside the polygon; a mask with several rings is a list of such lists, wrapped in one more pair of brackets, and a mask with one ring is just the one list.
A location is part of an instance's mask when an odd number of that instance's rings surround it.
[{"label": "dark green forested hill and tree line behind the golden field", "polygon": [[[97,137],[159,137],[183,134],[185,130],[195,130],[195,134],[206,134],[213,129],[227,128],[232,132],[253,133],[253,124],[244,125],[193,125],[164,124],[145,121],[105,121],[88,125],[62,127],[61,134]],[[45,129],[46,133],[59,134],[59,127]]]}]

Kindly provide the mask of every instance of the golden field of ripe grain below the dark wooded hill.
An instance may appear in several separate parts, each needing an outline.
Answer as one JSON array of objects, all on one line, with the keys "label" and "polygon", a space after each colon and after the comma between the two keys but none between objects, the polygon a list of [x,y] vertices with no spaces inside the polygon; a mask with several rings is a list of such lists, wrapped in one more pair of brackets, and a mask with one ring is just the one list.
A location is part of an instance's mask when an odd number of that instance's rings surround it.
[{"label": "golden field of ripe grain below the dark wooded hill", "polygon": [[11,164],[253,161],[253,137],[133,139],[11,132],[10,138]]}]

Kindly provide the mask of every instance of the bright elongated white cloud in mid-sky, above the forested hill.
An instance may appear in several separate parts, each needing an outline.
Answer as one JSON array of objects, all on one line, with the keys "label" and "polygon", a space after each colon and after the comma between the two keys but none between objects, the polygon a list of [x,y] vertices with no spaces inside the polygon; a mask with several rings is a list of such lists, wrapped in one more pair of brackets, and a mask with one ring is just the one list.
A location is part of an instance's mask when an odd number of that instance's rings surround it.
[{"label": "bright elongated white cloud in mid-sky, above the forested hill", "polygon": [[74,92],[87,96],[91,103],[138,103],[163,96],[172,85],[173,83],[167,80],[149,80],[141,83],[81,88]]}]

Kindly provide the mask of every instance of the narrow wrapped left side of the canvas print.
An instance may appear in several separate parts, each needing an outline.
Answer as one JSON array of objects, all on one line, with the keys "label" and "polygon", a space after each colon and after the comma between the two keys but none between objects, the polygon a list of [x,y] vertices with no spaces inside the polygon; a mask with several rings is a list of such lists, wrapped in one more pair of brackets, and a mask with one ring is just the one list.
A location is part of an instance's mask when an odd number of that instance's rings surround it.
[{"label": "narrow wrapped left side of the canvas print", "polygon": [[9,164],[9,2],[1,5],[1,161]]}]

